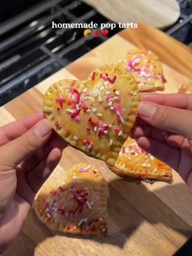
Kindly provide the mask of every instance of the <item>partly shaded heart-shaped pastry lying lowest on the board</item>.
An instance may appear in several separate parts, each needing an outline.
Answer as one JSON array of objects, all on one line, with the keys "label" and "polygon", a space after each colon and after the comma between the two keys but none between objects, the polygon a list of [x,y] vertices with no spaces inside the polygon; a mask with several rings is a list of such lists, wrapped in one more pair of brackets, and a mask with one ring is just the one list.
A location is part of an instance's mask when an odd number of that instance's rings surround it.
[{"label": "partly shaded heart-shaped pastry lying lowest on the board", "polygon": [[107,236],[108,184],[90,164],[76,164],[56,186],[43,186],[35,211],[47,227],[64,234]]}]

